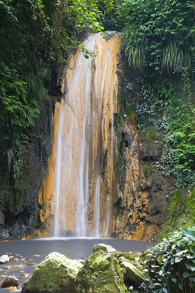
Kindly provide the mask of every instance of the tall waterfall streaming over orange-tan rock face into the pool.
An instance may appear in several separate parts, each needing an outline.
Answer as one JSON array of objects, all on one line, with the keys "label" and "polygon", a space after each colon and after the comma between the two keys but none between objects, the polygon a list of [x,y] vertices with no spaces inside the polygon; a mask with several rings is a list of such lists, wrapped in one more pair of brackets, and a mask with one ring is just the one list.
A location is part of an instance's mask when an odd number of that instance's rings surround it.
[{"label": "tall waterfall streaming over orange-tan rock face into the pool", "polygon": [[56,104],[52,156],[43,188],[45,218],[53,215],[55,237],[98,237],[108,232],[120,38],[114,35],[106,41],[98,33],[84,45],[97,57],[86,59],[77,52],[71,58],[66,94]]}]

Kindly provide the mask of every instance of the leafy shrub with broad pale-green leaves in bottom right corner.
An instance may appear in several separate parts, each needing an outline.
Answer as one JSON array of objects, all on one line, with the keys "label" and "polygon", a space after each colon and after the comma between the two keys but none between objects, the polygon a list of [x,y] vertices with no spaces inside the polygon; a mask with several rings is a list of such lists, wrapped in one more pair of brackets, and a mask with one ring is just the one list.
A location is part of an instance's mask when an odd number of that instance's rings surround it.
[{"label": "leafy shrub with broad pale-green leaves in bottom right corner", "polygon": [[195,292],[195,227],[181,230],[147,253],[144,292]]}]

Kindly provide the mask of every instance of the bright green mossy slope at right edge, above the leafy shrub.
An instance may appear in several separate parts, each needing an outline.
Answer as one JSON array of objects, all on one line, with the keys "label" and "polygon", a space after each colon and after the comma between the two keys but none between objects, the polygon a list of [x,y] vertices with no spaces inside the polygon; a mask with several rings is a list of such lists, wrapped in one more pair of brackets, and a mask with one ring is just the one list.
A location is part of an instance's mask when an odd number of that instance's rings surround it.
[{"label": "bright green mossy slope at right edge, above the leafy shrub", "polygon": [[175,191],[165,224],[155,236],[154,241],[162,241],[168,233],[182,227],[189,227],[195,224],[195,188],[189,194],[181,190]]}]

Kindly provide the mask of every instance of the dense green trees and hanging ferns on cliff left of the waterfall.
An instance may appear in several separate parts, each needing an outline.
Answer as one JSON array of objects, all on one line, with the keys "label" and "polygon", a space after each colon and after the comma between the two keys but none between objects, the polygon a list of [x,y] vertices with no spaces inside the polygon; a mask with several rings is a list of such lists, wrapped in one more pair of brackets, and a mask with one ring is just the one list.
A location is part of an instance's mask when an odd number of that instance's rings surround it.
[{"label": "dense green trees and hanging ferns on cliff left of the waterfall", "polygon": [[[99,1],[0,1],[0,139],[9,168],[19,178],[23,154],[39,116],[40,100],[60,93],[70,51],[83,50],[86,33],[101,31]],[[112,1],[104,0],[105,11]]]}]

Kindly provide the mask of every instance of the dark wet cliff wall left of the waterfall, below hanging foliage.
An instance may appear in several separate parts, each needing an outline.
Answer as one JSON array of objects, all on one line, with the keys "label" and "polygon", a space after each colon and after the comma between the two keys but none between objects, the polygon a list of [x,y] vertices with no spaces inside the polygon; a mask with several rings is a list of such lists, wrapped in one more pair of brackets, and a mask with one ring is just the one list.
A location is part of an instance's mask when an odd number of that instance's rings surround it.
[{"label": "dark wet cliff wall left of the waterfall, below hanging foliage", "polygon": [[28,129],[30,139],[26,146],[21,180],[13,178],[8,168],[6,137],[1,139],[0,171],[0,239],[21,239],[40,228],[38,191],[48,168],[53,129],[53,113],[57,98],[50,96],[41,102],[40,117],[35,127]]}]

